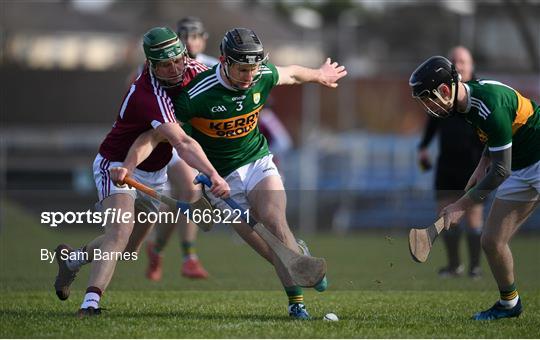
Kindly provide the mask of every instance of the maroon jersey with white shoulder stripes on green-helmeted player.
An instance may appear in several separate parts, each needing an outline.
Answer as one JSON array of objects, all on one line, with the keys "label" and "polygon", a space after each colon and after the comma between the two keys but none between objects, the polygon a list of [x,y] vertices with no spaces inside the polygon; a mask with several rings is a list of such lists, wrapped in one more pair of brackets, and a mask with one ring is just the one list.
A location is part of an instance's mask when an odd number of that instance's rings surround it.
[{"label": "maroon jersey with white shoulder stripes on green-helmeted player", "polygon": [[[164,123],[175,123],[174,107],[170,97],[178,94],[198,73],[207,70],[203,64],[189,59],[182,84],[162,87],[145,65],[142,73],[131,84],[124,96],[116,122],[99,147],[99,153],[111,162],[123,162],[131,144],[137,137]],[[172,156],[169,143],[159,143],[138,169],[154,172],[163,169]]]}]

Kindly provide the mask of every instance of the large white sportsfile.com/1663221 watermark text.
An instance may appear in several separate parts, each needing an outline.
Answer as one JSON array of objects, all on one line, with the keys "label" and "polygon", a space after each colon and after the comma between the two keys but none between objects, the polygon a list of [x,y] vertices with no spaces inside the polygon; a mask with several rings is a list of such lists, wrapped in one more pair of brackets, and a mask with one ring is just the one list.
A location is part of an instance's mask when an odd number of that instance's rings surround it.
[{"label": "large white sportsfile.com/1663221 watermark text", "polygon": [[145,212],[136,214],[122,209],[107,208],[104,211],[43,211],[41,212],[41,224],[50,227],[57,227],[61,224],[97,224],[101,227],[109,223],[178,223],[181,220],[187,222],[214,223],[214,224],[236,224],[250,221],[249,210],[245,212],[239,209],[192,209],[177,211]]}]

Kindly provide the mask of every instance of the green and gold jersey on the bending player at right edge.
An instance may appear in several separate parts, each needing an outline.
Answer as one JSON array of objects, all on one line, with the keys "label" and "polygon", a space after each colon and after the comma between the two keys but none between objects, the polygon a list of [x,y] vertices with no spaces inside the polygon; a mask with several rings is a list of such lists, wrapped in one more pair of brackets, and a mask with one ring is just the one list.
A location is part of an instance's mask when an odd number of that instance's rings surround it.
[{"label": "green and gold jersey on the bending player at right edge", "polygon": [[508,85],[472,80],[465,118],[476,128],[490,151],[512,147],[512,170],[540,160],[540,108]]}]

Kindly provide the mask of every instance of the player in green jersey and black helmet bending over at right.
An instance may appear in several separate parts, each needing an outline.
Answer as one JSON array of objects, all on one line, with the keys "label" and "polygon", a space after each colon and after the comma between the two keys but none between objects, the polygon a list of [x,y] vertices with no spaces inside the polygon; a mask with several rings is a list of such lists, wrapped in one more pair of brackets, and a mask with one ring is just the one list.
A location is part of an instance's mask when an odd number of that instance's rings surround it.
[{"label": "player in green jersey and black helmet bending over at right", "polygon": [[461,82],[455,66],[431,57],[413,72],[412,94],[428,112],[448,117],[452,112],[476,127],[486,147],[465,190],[444,208],[445,228],[497,189],[482,232],[481,243],[500,299],[474,314],[475,320],[516,317],[523,309],[514,278],[509,241],[540,201],[540,108],[519,92],[493,80]]}]

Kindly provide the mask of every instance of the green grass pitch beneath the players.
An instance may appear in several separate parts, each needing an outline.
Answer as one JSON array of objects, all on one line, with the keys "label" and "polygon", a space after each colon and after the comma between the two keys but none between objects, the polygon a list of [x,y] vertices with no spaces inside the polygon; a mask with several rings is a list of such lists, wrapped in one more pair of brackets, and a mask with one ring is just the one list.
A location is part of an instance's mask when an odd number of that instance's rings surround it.
[{"label": "green grass pitch beneath the players", "polygon": [[[40,249],[61,242],[80,246],[100,230],[41,226],[12,205],[0,230],[1,338],[538,338],[540,252],[538,235],[518,235],[513,244],[524,313],[517,319],[477,322],[470,316],[498,297],[485,261],[478,281],[436,276],[444,264],[437,243],[426,264],[414,263],[401,232],[318,235],[306,241],[328,261],[330,287],[306,289],[312,321],[290,320],[286,297],[273,269],[227,233],[200,234],[200,257],[211,278],[182,278],[178,237],[167,247],[164,279],[144,278],[147,259],[122,262],[102,300],[99,318],[79,320],[88,269],[69,300],[56,298],[56,264]],[[464,243],[464,242],[463,242]],[[464,244],[463,248],[464,247]],[[463,249],[464,250],[464,249]],[[465,252],[462,252],[465,254]],[[334,312],[338,322],[323,321]]]}]

